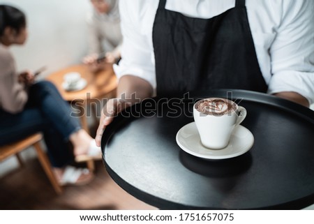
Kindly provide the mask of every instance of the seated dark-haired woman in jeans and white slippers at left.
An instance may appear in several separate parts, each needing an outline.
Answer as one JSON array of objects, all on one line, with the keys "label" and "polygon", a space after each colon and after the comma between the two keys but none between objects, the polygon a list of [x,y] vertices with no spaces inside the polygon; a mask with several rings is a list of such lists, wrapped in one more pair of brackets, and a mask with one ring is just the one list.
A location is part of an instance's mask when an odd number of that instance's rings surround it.
[{"label": "seated dark-haired woman in jeans and white slippers at left", "polygon": [[[50,82],[34,82],[27,70],[15,71],[11,45],[23,45],[27,39],[24,13],[0,5],[0,146],[42,132],[54,173],[61,185],[86,184],[94,177],[87,169],[69,166],[101,156],[94,139],[83,130],[70,107]],[[73,154],[69,144],[73,144]]]}]

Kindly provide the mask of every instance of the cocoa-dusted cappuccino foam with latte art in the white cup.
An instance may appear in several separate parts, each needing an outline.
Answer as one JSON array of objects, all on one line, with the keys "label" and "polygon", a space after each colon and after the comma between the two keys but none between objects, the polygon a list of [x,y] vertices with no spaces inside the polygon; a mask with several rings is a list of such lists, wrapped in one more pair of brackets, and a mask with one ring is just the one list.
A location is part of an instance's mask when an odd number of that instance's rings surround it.
[{"label": "cocoa-dusted cappuccino foam with latte art in the white cup", "polygon": [[223,115],[237,110],[237,105],[224,98],[207,98],[195,103],[195,109],[202,114]]}]

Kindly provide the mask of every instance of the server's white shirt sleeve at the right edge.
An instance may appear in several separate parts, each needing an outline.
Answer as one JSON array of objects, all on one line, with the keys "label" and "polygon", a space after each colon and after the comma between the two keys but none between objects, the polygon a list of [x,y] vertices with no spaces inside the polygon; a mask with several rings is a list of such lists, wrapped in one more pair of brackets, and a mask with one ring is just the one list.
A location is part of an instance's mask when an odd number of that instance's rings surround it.
[{"label": "server's white shirt sleeve at the right edge", "polygon": [[314,1],[283,1],[271,55],[269,94],[294,91],[314,103]]}]

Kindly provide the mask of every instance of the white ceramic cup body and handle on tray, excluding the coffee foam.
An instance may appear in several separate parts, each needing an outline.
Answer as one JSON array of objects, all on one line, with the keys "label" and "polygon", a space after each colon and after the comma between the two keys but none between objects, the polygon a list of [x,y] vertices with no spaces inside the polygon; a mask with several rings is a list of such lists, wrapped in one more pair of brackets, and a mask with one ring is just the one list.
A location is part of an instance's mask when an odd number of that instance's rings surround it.
[{"label": "white ceramic cup body and handle on tray, excluding the coffee foam", "polygon": [[[195,108],[197,103],[213,99],[226,100],[232,104],[233,110],[217,115],[204,114]],[[203,146],[209,149],[223,149],[227,147],[234,128],[246,118],[246,109],[225,98],[206,98],[193,105],[193,117]]]}]

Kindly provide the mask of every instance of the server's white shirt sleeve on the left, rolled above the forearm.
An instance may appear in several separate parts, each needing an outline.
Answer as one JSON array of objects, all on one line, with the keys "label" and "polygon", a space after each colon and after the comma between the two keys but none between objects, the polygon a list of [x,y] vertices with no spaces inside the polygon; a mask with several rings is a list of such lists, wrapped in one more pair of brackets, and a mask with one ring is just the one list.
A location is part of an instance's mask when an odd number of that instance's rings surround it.
[{"label": "server's white shirt sleeve on the left, rolled above the forearm", "polygon": [[156,88],[155,66],[151,58],[154,50],[151,49],[148,37],[140,26],[140,6],[133,2],[128,3],[128,0],[120,1],[119,10],[123,36],[122,59],[119,65],[114,65],[114,72],[118,78],[124,75],[135,75]]}]

